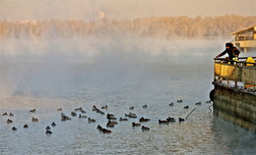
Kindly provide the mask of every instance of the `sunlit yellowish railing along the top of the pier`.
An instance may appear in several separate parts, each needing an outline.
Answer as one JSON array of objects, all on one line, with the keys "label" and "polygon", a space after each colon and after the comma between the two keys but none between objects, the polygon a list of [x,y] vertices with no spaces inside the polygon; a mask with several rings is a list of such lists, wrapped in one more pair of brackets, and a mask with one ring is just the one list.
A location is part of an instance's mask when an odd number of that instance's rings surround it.
[{"label": "sunlit yellowish railing along the top of the pier", "polygon": [[256,88],[256,57],[240,57],[238,61],[215,58],[214,81],[232,80],[234,86],[241,82],[243,86]]}]

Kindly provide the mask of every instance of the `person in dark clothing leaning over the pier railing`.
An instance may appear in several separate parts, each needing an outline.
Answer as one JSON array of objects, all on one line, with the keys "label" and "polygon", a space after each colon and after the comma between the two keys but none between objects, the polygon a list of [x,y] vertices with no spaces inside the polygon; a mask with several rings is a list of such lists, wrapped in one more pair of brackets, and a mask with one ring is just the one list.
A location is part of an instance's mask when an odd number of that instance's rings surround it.
[{"label": "person in dark clothing leaning over the pier railing", "polygon": [[[221,54],[216,56],[216,58],[220,58],[220,57],[224,56],[224,54],[226,54],[226,53],[228,54],[228,60],[237,61],[240,51],[236,47],[234,47],[232,43],[227,42],[227,43],[225,43],[224,52],[222,52]],[[231,62],[231,64],[233,64],[233,62]]]}]

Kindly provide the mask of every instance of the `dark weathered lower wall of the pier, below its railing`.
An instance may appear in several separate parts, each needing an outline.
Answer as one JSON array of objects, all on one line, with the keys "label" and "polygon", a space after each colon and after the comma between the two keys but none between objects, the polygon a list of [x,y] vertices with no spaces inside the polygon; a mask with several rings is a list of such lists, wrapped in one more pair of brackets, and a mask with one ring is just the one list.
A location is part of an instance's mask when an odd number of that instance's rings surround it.
[{"label": "dark weathered lower wall of the pier, below its railing", "polygon": [[256,95],[214,84],[214,114],[256,133]]}]

